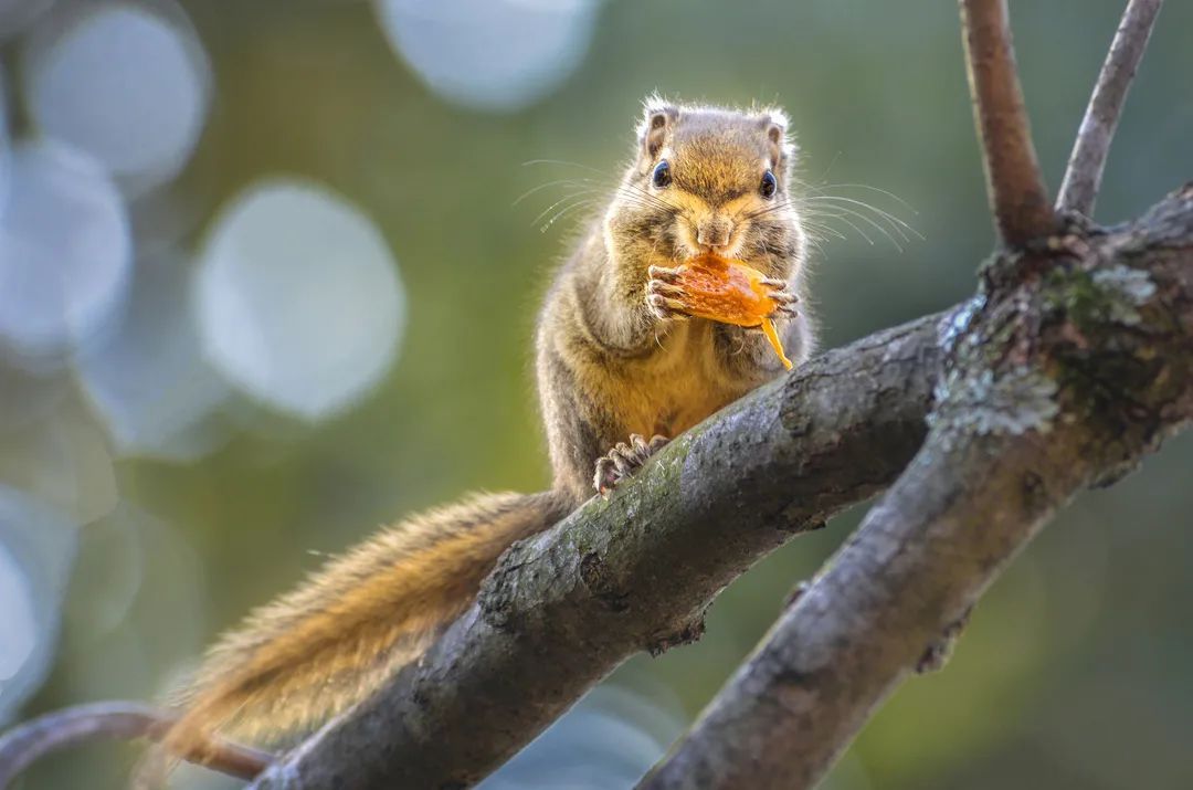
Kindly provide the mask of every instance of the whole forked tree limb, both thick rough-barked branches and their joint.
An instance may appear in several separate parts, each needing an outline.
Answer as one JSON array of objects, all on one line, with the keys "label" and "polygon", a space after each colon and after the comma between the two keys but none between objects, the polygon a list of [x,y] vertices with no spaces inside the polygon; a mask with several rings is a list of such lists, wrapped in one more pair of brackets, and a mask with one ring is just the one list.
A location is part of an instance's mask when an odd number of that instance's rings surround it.
[{"label": "whole forked tree limb, both thick rough-barked branches and their joint", "polygon": [[[517,544],[421,662],[253,786],[480,780],[625,658],[698,636],[707,604],[760,556],[886,485],[923,437],[945,342],[954,362],[931,444],[781,621],[774,649],[795,653],[764,652],[735,678],[768,718],[740,722],[753,735],[735,740],[715,709],[709,737],[698,729],[648,783],[805,786],[781,772],[792,749],[805,749],[806,782],[820,776],[1056,507],[1193,413],[1193,189],[1070,243],[1044,269],[997,259],[984,300],[809,363],[678,439],[611,500]],[[705,761],[759,765],[762,742],[786,757],[771,784],[761,770],[692,779]]]}]

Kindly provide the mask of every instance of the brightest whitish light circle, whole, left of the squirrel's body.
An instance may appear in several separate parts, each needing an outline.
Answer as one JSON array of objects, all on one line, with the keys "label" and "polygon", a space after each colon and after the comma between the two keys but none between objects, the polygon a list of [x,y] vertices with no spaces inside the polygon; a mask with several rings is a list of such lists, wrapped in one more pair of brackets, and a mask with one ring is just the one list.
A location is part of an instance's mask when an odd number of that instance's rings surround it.
[{"label": "brightest whitish light circle, whole, left of the squirrel's body", "polygon": [[406,316],[396,264],[372,222],[298,179],[259,183],[223,210],[196,300],[208,359],[251,396],[307,420],[377,383]]}]

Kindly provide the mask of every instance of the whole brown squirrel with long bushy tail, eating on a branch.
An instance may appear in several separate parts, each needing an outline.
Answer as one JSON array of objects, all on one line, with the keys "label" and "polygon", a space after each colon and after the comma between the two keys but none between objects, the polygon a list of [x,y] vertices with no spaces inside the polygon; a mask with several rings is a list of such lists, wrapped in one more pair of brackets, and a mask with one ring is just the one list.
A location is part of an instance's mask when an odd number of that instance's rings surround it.
[{"label": "whole brown squirrel with long bushy tail, eating on a branch", "polygon": [[808,236],[787,125],[774,107],[644,101],[632,159],[538,317],[550,490],[476,494],[409,518],[253,611],[179,695],[167,754],[202,755],[215,734],[286,745],[363,699],[468,609],[511,544],[778,376],[761,332],[684,314],[678,264],[711,252],[760,270],[790,357],[806,360],[815,327],[793,303]]}]

